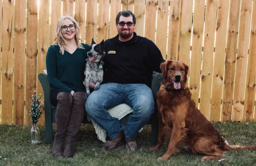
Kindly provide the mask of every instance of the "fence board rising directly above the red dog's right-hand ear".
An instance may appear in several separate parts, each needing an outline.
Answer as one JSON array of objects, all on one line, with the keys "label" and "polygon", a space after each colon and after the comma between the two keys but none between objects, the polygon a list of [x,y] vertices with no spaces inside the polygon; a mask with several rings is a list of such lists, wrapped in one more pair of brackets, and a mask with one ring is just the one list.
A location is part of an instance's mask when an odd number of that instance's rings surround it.
[{"label": "fence board rising directly above the red dog's right-hand ear", "polygon": [[182,0],[180,16],[180,51],[178,60],[190,63],[190,42],[192,32],[193,1]]}]

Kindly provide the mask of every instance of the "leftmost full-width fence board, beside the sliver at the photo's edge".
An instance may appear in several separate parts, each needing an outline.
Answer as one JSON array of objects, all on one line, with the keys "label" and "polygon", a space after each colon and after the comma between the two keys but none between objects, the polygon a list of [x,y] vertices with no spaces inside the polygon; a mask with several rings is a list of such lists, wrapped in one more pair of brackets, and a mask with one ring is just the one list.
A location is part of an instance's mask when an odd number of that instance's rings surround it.
[{"label": "leftmost full-width fence board, beside the sliver at the photo's edge", "polygon": [[14,0],[3,1],[2,31],[2,123],[13,123],[13,32]]}]

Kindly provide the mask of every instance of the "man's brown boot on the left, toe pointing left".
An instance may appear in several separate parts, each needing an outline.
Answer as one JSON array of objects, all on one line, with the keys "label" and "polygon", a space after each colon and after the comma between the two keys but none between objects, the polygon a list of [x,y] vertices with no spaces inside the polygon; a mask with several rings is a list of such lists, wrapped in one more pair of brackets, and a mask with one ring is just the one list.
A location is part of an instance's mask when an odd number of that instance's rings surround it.
[{"label": "man's brown boot on the left, toe pointing left", "polygon": [[105,151],[109,151],[115,147],[117,147],[118,145],[122,144],[124,142],[124,131],[121,130],[121,132],[116,136],[115,139],[109,139],[107,142],[105,142],[102,145],[103,150]]}]

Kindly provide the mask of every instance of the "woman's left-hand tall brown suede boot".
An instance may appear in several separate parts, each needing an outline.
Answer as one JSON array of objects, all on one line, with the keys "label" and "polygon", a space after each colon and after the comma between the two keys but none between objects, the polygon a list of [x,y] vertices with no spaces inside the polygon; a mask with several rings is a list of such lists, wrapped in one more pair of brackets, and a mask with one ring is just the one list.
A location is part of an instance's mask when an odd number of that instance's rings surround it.
[{"label": "woman's left-hand tall brown suede boot", "polygon": [[56,134],[53,142],[52,154],[54,156],[62,156],[63,142],[66,134],[67,124],[70,117],[72,107],[72,95],[60,92],[57,95],[58,104],[56,107]]}]

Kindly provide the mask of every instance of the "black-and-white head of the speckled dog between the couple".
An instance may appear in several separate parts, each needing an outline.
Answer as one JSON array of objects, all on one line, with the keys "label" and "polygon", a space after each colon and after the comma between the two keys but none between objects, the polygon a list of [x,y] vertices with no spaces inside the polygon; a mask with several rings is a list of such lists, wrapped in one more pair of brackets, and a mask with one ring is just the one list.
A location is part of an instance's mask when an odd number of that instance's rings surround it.
[{"label": "black-and-white head of the speckled dog between the couple", "polygon": [[100,44],[97,44],[92,39],[90,49],[87,52],[88,60],[99,62],[103,54],[104,54],[104,40],[102,40]]}]

